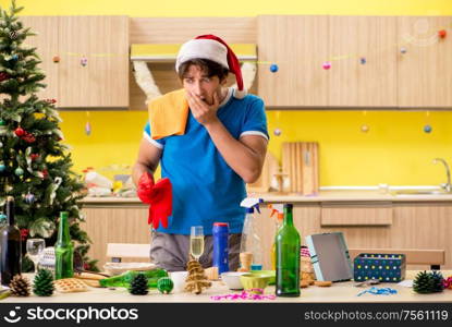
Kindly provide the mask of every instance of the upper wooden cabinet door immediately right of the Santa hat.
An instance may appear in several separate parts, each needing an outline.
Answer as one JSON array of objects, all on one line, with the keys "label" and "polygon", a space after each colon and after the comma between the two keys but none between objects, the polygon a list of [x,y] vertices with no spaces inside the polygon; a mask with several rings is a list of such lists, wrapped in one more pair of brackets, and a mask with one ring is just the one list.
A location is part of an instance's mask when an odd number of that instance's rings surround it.
[{"label": "upper wooden cabinet door immediately right of the Santa hat", "polygon": [[266,105],[328,106],[328,16],[259,16],[257,25],[258,93]]}]

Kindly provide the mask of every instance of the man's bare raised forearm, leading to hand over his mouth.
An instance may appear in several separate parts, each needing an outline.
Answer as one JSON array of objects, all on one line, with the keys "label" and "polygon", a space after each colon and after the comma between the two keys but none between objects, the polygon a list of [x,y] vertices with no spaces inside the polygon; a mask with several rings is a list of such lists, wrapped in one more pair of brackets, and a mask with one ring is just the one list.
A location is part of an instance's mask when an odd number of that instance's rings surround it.
[{"label": "man's bare raised forearm, leading to hand over his mouth", "polygon": [[264,158],[242,142],[232,137],[221,121],[215,121],[205,125],[205,128],[232,170],[246,183],[255,182],[260,175]]}]

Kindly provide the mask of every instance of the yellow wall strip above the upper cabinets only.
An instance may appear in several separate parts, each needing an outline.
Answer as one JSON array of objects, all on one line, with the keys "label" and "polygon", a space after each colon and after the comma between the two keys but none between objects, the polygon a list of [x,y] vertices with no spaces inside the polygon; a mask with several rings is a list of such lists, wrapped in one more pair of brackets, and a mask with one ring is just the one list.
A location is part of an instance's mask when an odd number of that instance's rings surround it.
[{"label": "yellow wall strip above the upper cabinets only", "polygon": [[[114,14],[157,16],[254,16],[258,14],[449,15],[450,0],[16,0],[26,15]],[[0,0],[3,7],[9,1]]]}]

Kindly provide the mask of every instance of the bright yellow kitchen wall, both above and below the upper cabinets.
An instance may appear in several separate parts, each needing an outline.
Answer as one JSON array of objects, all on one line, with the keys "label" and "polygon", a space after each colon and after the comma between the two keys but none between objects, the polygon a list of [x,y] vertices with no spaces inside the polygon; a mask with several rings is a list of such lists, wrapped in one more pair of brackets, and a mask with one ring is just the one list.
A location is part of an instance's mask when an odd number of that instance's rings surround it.
[{"label": "bright yellow kitchen wall, both above and below the upper cabinets", "polygon": [[[4,7],[9,1],[0,0]],[[254,16],[258,14],[452,15],[450,0],[325,1],[107,1],[22,0],[26,15],[125,14],[130,16]],[[221,7],[221,10],[218,8]],[[452,34],[452,33],[451,33]],[[451,36],[452,37],[452,36]],[[90,112],[93,133],[84,132],[85,112],[62,112],[65,142],[73,147],[75,168],[87,166],[107,175],[112,164],[132,165],[146,112]],[[452,112],[285,111],[268,112],[270,152],[280,157],[283,141],[320,143],[321,185],[437,184],[443,157],[452,164]],[[361,132],[368,124],[368,133]],[[433,131],[423,132],[429,123]],[[272,134],[276,128],[282,135]],[[118,171],[123,172],[123,171]]]}]

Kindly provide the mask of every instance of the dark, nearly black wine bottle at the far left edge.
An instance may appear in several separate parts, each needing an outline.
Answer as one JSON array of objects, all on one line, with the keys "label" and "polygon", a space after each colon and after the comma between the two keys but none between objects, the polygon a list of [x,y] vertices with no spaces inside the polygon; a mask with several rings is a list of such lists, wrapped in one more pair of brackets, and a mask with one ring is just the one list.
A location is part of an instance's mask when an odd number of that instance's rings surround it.
[{"label": "dark, nearly black wine bottle at the far left edge", "polygon": [[0,232],[1,283],[8,286],[15,275],[21,274],[22,242],[21,231],[14,220],[14,198],[9,196],[5,204],[7,226]]}]

